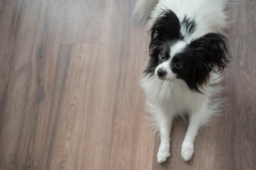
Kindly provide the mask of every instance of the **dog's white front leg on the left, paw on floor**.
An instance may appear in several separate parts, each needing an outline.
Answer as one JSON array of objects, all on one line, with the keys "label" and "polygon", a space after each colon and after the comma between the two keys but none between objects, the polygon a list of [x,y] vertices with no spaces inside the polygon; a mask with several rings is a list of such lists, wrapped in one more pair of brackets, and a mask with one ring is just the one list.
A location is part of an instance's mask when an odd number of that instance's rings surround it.
[{"label": "dog's white front leg on the left, paw on floor", "polygon": [[170,153],[170,132],[173,118],[166,113],[159,114],[160,146],[157,153],[157,162],[163,163],[171,155]]}]

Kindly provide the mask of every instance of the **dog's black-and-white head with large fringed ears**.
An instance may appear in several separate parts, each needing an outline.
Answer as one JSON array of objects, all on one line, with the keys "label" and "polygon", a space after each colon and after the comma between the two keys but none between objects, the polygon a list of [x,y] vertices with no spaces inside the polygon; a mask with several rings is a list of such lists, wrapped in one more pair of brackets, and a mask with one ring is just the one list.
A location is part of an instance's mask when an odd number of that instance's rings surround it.
[{"label": "dog's black-and-white head with large fringed ears", "polygon": [[[195,27],[195,23],[190,24],[185,26],[188,32]],[[145,72],[163,81],[180,78],[199,92],[198,87],[207,83],[210,72],[220,73],[229,63],[227,39],[218,33],[208,33],[187,43],[180,27],[171,10],[157,17],[150,31],[150,61]]]}]

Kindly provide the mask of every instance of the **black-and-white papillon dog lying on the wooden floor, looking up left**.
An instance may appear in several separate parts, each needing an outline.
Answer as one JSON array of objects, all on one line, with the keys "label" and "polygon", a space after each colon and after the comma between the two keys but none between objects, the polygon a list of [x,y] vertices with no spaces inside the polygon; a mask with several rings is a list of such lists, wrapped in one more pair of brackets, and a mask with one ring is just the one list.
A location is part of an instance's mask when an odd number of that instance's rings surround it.
[{"label": "black-and-white papillon dog lying on the wooden floor, looking up left", "polygon": [[200,127],[220,112],[220,73],[232,57],[225,28],[228,0],[138,0],[133,17],[149,19],[149,61],[141,78],[148,110],[160,134],[157,162],[171,155],[174,118],[189,118],[181,157],[189,161]]}]

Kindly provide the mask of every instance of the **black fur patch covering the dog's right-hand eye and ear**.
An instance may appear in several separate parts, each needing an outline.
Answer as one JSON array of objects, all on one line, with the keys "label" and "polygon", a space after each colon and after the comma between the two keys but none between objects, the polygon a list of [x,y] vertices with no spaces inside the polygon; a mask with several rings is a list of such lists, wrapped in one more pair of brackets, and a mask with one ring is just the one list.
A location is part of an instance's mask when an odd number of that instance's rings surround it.
[{"label": "black fur patch covering the dog's right-hand eye and ear", "polygon": [[[182,78],[190,89],[198,89],[205,85],[210,78],[210,72],[220,73],[231,61],[227,47],[227,39],[218,33],[208,33],[191,43],[173,57],[171,68]],[[181,62],[181,69],[175,68],[175,63]]]}]

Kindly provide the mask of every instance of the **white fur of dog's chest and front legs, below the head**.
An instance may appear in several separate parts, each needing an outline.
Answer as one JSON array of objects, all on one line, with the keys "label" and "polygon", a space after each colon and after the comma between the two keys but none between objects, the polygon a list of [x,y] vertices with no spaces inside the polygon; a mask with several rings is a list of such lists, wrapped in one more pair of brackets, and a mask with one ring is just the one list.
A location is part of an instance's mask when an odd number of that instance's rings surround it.
[{"label": "white fur of dog's chest and front legs, below the head", "polygon": [[[212,83],[218,83],[222,78],[211,79]],[[222,90],[222,87],[209,85],[200,89],[204,94],[192,92],[183,80],[162,81],[157,76],[146,76],[141,80],[145,90],[147,105],[153,114],[157,131],[160,132],[161,143],[157,153],[157,161],[166,161],[170,154],[170,132],[172,121],[175,117],[185,117],[189,114],[189,126],[182,143],[181,156],[189,161],[193,155],[193,142],[198,129],[206,125],[211,117],[219,112],[219,106],[223,99],[213,99],[214,95]]]}]

